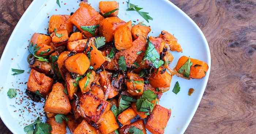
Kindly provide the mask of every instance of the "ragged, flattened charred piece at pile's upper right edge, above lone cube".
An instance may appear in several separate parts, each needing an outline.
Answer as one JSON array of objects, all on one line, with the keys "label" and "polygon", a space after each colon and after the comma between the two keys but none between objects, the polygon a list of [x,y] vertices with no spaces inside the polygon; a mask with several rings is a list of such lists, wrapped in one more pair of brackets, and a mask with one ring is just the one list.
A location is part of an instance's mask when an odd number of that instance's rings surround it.
[{"label": "ragged, flattened charred piece at pile's upper right edge, above lone cube", "polygon": [[171,51],[182,51],[180,44],[177,43],[177,39],[169,32],[163,30],[158,37],[162,38],[162,42],[169,46]]}]

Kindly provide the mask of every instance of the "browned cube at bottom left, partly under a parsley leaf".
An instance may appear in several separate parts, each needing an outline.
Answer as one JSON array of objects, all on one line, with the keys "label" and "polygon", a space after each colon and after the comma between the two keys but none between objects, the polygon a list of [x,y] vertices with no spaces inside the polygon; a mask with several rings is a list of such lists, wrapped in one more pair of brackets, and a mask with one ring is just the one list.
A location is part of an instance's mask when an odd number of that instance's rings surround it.
[{"label": "browned cube at bottom left, partly under a parsley leaf", "polygon": [[57,123],[55,121],[55,118],[49,118],[47,119],[46,123],[48,123],[50,126],[52,126],[51,134],[66,134],[66,125],[63,121],[62,123]]}]

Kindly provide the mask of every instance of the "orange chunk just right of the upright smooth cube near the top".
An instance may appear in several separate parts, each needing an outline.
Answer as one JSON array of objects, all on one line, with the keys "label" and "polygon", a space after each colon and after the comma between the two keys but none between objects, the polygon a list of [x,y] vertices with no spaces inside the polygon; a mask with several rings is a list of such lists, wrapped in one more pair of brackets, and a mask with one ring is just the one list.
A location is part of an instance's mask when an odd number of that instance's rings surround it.
[{"label": "orange chunk just right of the upright smooth cube near the top", "polygon": [[151,31],[150,27],[147,27],[141,24],[133,25],[132,27],[133,40],[136,40],[139,37],[139,35],[142,35],[144,38],[146,38],[150,31]]}]

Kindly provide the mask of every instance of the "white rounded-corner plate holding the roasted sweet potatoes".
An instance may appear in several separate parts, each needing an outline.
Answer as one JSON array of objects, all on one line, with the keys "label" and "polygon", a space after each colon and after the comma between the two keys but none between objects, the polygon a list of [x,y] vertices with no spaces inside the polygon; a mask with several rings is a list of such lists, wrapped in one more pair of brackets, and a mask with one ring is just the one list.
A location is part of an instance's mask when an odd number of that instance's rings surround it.
[{"label": "white rounded-corner plate holding the roasted sweet potatoes", "polygon": [[[80,0],[78,0],[80,2]],[[20,99],[25,94],[27,79],[29,77],[28,63],[26,61],[29,51],[27,46],[34,32],[46,33],[48,28],[48,16],[54,14],[70,14],[78,9],[78,1],[60,0],[61,8],[56,4],[56,0],[34,0],[26,12],[20,18],[12,35],[5,47],[0,60],[0,116],[5,125],[14,134],[25,133],[23,127],[36,119],[39,113],[42,113],[42,103],[35,103],[24,98],[19,105]],[[98,11],[98,2],[100,0],[89,0],[89,3]],[[117,0],[120,5],[118,17],[124,21],[136,21],[137,24],[144,19],[135,11],[126,11],[127,3],[125,0]],[[64,5],[64,3],[66,3]],[[211,56],[210,50],[202,31],[184,12],[168,0],[131,0],[132,4],[143,7],[142,11],[149,12],[154,20],[149,20],[145,24],[151,26],[149,35],[158,36],[162,30],[168,31],[178,39],[183,52],[171,52],[174,59],[170,67],[174,68],[178,59],[185,55],[191,58],[206,62],[209,70],[203,79],[186,80],[173,76],[170,90],[165,92],[160,99],[159,104],[167,109],[172,109],[172,115],[169,119],[166,134],[180,134],[187,129],[189,122],[193,118],[199,102],[203,96],[204,89],[210,74]],[[56,11],[57,9],[57,11]],[[137,21],[139,19],[139,21]],[[12,60],[13,58],[13,60]],[[11,75],[11,68],[26,70],[20,75]],[[180,83],[181,91],[176,95],[172,92],[174,84]],[[8,98],[9,88],[19,89],[16,98]],[[189,88],[195,91],[188,96]],[[20,95],[23,94],[23,95]],[[11,106],[14,105],[14,106]],[[25,108],[26,107],[26,108]],[[31,113],[28,112],[30,107]],[[36,111],[34,111],[36,109]],[[14,112],[16,110],[16,112]],[[23,111],[24,110],[24,111]],[[44,118],[43,118],[44,119]]]}]

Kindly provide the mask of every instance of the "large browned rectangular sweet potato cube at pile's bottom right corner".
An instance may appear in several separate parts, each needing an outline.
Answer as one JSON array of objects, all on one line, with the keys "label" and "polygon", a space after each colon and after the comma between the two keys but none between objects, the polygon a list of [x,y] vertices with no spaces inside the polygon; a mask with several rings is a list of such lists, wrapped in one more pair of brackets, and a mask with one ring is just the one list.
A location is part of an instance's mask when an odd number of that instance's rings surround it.
[{"label": "large browned rectangular sweet potato cube at pile's bottom right corner", "polygon": [[152,134],[163,134],[170,116],[171,110],[160,105],[155,106],[148,117],[146,129]]}]

